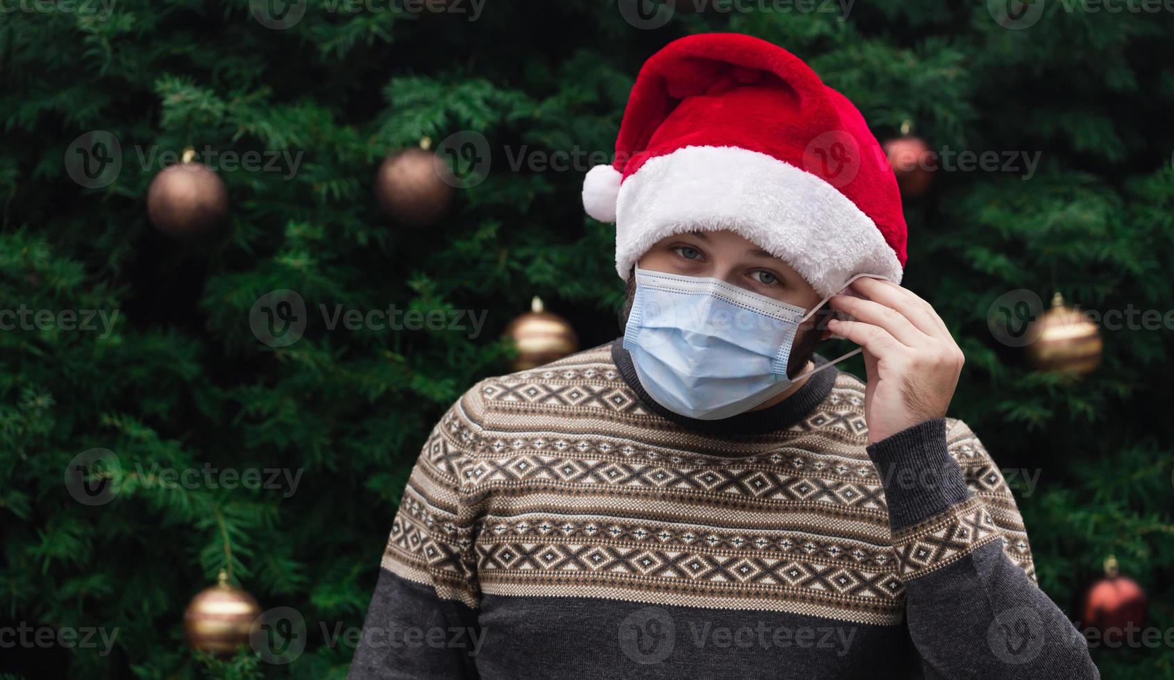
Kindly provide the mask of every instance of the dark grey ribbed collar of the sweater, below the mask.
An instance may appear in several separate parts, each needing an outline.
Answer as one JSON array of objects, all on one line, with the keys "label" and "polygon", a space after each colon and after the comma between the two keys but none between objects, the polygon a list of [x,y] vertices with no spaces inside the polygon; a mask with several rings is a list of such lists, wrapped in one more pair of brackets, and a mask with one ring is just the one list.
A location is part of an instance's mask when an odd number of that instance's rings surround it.
[{"label": "dark grey ribbed collar of the sweater, below the mask", "polygon": [[[816,373],[808,378],[803,387],[775,406],[761,410],[748,410],[721,420],[701,420],[674,413],[649,396],[636,376],[636,367],[632,363],[632,354],[623,348],[622,336],[612,341],[612,360],[620,370],[623,382],[636,393],[636,397],[640,399],[645,408],[686,429],[716,435],[764,434],[791,427],[803,419],[803,416],[815,410],[815,407],[819,406],[828,397],[831,388],[836,385],[836,373],[838,373],[835,366]],[[823,366],[828,362],[826,359],[818,354],[815,354],[811,361],[816,366]]]}]

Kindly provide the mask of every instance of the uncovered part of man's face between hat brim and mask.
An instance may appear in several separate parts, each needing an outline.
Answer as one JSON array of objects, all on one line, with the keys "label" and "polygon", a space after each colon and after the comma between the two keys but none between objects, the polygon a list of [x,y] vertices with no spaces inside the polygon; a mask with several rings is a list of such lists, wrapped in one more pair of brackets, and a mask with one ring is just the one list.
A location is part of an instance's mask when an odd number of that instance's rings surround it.
[{"label": "uncovered part of man's face between hat brim and mask", "polygon": [[[655,272],[721,279],[804,310],[811,310],[821,300],[819,293],[787,263],[727,230],[690,231],[662,238],[640,257],[637,265]],[[628,322],[635,294],[636,278],[629,273],[620,313],[621,327]],[[787,367],[788,375],[795,376],[807,366],[824,335],[823,325],[824,319],[817,313],[799,327]]]}]

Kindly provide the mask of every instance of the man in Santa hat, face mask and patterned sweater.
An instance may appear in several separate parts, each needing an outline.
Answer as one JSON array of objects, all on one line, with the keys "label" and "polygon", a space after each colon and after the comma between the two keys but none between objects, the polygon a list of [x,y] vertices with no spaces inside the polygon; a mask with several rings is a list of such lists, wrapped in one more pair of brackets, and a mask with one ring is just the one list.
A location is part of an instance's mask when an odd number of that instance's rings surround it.
[{"label": "man in Santa hat, face mask and patterned sweater", "polygon": [[963,355],[898,285],[896,182],[846,98],[761,40],[677,40],[583,203],[616,223],[623,336],[452,404],[352,679],[1099,678],[946,417]]}]

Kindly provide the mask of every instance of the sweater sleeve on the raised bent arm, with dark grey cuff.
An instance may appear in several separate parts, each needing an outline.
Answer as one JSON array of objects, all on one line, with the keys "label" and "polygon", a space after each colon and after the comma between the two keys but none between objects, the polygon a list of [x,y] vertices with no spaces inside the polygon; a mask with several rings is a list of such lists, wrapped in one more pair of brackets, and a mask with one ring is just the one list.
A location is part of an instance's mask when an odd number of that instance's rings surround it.
[{"label": "sweater sleeve on the raised bent arm, with dark grey cuff", "polygon": [[868,454],[926,678],[1100,678],[1084,637],[1035,585],[1011,491],[965,423],[925,421]]}]

